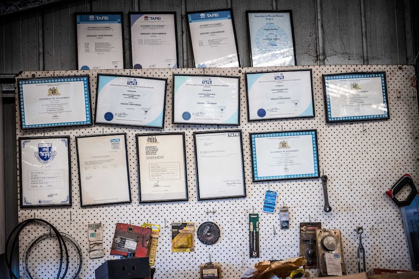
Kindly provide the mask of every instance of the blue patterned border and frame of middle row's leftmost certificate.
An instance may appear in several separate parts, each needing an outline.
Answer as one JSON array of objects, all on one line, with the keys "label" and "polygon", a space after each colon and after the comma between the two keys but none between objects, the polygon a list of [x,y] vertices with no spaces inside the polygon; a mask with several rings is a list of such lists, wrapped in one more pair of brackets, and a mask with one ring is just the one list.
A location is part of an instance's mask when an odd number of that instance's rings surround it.
[{"label": "blue patterned border and frame of middle row's leftmost certificate", "polygon": [[[19,84],[19,109],[20,109],[20,123],[22,129],[29,128],[45,128],[58,126],[74,126],[74,125],[89,125],[92,124],[91,107],[90,107],[90,91],[89,91],[89,77],[88,76],[73,76],[73,77],[48,77],[41,79],[24,79],[17,80]],[[39,123],[33,125],[25,124],[25,99],[23,92],[23,84],[39,84],[39,83],[57,83],[57,82],[83,82],[83,95],[85,99],[86,121],[67,121],[61,123]],[[80,92],[75,92],[80,93]]]}]

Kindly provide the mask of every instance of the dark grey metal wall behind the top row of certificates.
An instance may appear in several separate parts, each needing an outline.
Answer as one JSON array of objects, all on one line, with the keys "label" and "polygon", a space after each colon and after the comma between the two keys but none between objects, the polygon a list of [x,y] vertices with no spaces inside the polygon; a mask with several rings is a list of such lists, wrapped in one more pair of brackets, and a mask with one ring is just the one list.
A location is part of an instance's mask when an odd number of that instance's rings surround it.
[{"label": "dark grey metal wall behind the top row of certificates", "polygon": [[0,71],[76,69],[74,13],[88,11],[124,13],[125,68],[131,68],[128,12],[175,11],[179,67],[192,67],[185,13],[221,8],[233,9],[242,66],[250,66],[245,11],[271,9],[293,11],[297,65],[405,64],[414,55],[406,45],[412,43],[408,6],[397,0],[63,1],[1,18]]}]

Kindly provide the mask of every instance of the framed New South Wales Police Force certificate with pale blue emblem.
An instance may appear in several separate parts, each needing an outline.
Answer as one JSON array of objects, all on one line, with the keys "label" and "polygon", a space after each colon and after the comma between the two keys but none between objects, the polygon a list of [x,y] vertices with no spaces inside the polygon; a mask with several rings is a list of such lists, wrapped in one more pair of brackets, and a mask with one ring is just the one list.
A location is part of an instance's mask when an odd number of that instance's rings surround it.
[{"label": "framed New South Wales Police Force certificate with pale blue emblem", "polygon": [[246,11],[252,67],[296,66],[293,15],[287,11]]}]

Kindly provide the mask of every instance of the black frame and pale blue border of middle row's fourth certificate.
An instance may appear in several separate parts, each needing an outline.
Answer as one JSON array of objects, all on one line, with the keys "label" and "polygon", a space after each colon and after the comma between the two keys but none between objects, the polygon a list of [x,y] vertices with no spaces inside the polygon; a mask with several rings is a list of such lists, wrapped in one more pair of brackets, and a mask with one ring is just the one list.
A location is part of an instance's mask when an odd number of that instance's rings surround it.
[{"label": "black frame and pale blue border of middle row's fourth certificate", "polygon": [[[280,77],[281,73],[284,72],[305,72],[310,71],[310,87],[311,87],[311,106],[307,107],[307,109],[301,115],[294,115],[290,117],[260,117],[260,118],[252,118],[250,119],[250,103],[249,103],[249,90],[252,87],[253,83],[259,77],[263,75],[273,75],[274,79],[278,76]],[[252,77],[252,78],[251,78]],[[253,78],[254,77],[254,78]],[[246,100],[247,100],[247,121],[259,121],[259,120],[272,120],[272,119],[288,119],[288,118],[303,118],[303,117],[314,117],[314,93],[313,93],[313,70],[312,69],[300,69],[300,70],[286,70],[286,71],[270,71],[270,72],[248,72],[244,73],[245,83],[246,83]],[[307,94],[308,95],[308,94]],[[261,96],[262,98],[263,96]]]}]

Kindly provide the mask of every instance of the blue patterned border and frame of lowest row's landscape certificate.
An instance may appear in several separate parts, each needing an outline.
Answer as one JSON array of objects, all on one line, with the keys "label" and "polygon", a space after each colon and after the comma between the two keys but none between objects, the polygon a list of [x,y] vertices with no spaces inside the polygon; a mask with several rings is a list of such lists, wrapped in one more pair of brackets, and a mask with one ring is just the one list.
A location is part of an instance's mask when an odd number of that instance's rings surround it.
[{"label": "blue patterned border and frame of lowest row's landscape certificate", "polygon": [[[313,160],[314,170],[312,173],[297,174],[297,175],[272,175],[272,176],[259,176],[258,175],[258,162],[256,160],[257,145],[256,138],[262,137],[285,137],[285,136],[312,136],[313,145]],[[270,180],[288,180],[288,179],[303,179],[303,178],[318,178],[319,164],[318,164],[318,148],[317,148],[317,130],[307,131],[288,131],[288,132],[269,132],[269,133],[250,133],[251,152],[252,152],[252,173],[253,181],[270,181]]]}]

